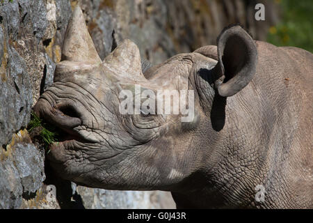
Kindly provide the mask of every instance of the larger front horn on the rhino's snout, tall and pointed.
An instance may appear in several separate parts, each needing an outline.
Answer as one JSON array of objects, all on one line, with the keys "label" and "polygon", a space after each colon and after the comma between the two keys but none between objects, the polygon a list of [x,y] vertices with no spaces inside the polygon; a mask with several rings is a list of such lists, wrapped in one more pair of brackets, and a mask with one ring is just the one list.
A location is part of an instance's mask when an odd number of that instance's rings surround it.
[{"label": "larger front horn on the rhino's snout, tall and pointed", "polygon": [[88,33],[83,12],[79,6],[74,8],[72,17],[67,24],[62,60],[84,63],[102,62]]}]

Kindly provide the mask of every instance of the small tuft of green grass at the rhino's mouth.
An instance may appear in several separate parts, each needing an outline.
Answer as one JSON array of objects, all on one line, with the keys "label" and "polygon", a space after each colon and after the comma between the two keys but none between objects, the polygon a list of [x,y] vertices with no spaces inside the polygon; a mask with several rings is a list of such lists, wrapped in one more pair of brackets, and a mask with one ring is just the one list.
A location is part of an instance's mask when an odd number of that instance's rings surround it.
[{"label": "small tuft of green grass at the rhino's mouth", "polygon": [[27,129],[31,133],[33,130],[35,130],[35,128],[40,130],[38,137],[40,137],[40,141],[45,144],[46,149],[50,144],[53,144],[54,141],[56,141],[56,129],[50,125],[47,125],[47,123],[42,121],[35,113],[32,112],[31,121],[29,122]]}]

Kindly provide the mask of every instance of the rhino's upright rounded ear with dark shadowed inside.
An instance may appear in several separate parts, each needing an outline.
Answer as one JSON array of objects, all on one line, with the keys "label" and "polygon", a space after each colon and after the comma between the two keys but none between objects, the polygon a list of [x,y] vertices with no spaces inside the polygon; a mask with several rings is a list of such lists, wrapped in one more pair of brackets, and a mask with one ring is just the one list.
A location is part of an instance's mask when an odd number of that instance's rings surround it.
[{"label": "rhino's upright rounded ear with dark shadowed inside", "polygon": [[218,79],[214,83],[218,94],[232,96],[241,91],[255,75],[257,47],[241,26],[225,29],[218,37]]}]

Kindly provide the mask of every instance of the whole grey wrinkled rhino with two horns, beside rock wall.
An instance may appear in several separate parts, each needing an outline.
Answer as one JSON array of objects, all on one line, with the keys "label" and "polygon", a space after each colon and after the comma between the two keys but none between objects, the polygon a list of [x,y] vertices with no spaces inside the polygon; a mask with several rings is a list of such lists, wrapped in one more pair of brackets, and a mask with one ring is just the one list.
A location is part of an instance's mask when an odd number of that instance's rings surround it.
[{"label": "whole grey wrinkled rhino with two horns, beside rock wall", "polygon": [[[54,84],[34,108],[68,133],[48,154],[60,176],[107,190],[170,191],[177,208],[313,208],[310,52],[255,42],[232,26],[217,47],[143,74],[134,43],[102,62],[83,24],[76,8]],[[193,121],[120,114],[119,93],[134,84],[194,90]]]}]

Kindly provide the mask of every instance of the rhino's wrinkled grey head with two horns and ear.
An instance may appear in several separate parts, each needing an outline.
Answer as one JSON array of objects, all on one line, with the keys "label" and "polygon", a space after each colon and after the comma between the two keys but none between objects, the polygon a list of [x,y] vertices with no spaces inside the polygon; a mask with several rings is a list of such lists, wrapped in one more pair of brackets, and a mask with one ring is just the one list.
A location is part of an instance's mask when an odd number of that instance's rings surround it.
[{"label": "rhino's wrinkled grey head with two horns and ear", "polygon": [[[138,47],[130,40],[102,61],[81,9],[75,8],[54,84],[34,107],[36,114],[65,132],[50,146],[52,167],[63,178],[107,190],[187,188],[216,160],[213,148],[223,144],[219,134],[225,125],[226,98],[250,82],[256,63],[255,43],[240,26],[225,29],[217,47],[177,54],[145,72]],[[141,93],[193,93],[192,100],[185,100],[192,115],[147,111],[149,107],[138,108],[136,102],[124,107],[134,114],[122,113],[127,94],[121,92],[131,92],[135,101],[138,88]],[[142,102],[146,96],[137,99]]]}]

